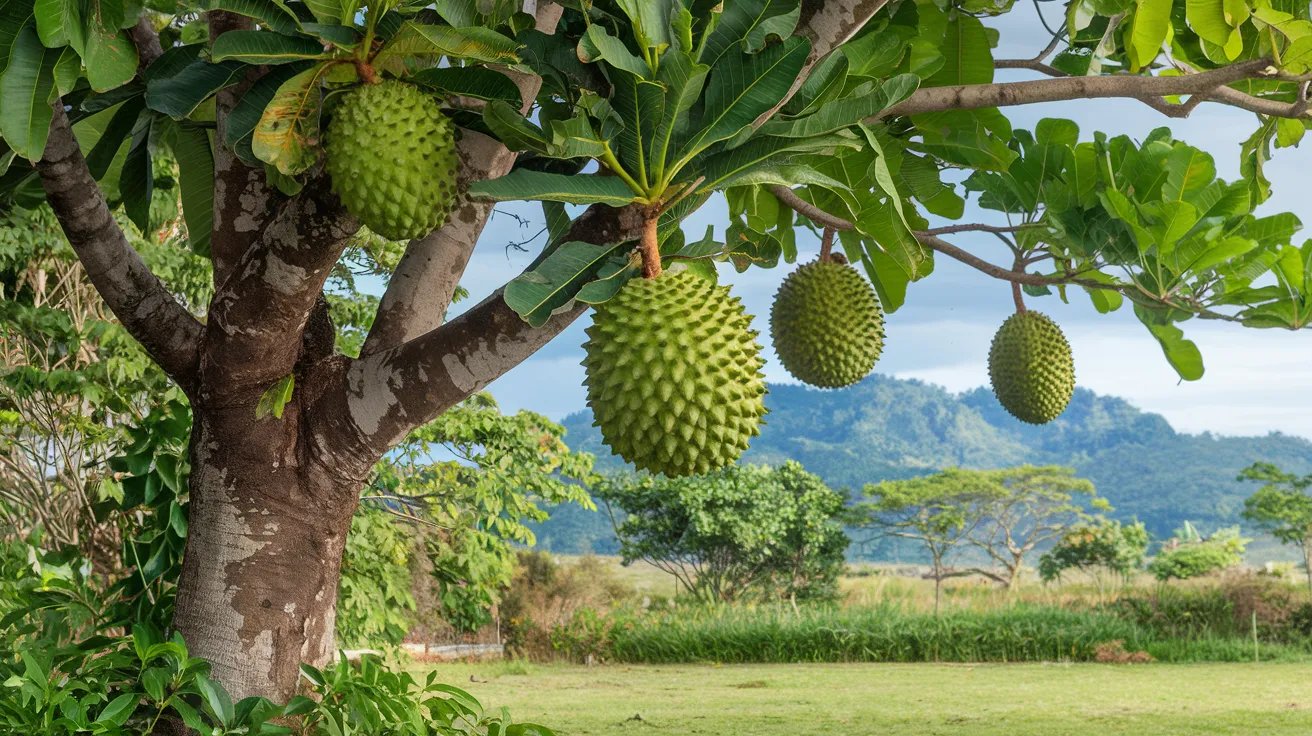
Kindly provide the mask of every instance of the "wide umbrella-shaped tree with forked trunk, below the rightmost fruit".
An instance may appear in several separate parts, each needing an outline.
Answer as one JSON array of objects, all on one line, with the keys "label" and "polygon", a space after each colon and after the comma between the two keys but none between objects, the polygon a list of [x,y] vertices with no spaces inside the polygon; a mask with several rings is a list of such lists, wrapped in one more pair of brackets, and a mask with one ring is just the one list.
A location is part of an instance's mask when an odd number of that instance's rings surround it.
[{"label": "wide umbrella-shaped tree with forked trunk, below the rightmost fruit", "polygon": [[1093,483],[1076,478],[1073,468],[1021,466],[981,475],[1001,492],[979,500],[981,520],[971,527],[966,542],[1001,565],[1002,572],[977,568],[972,572],[1013,592],[1021,585],[1026,555],[1092,518],[1077,496],[1088,496],[1092,508],[1110,510],[1106,500],[1094,497]]}]

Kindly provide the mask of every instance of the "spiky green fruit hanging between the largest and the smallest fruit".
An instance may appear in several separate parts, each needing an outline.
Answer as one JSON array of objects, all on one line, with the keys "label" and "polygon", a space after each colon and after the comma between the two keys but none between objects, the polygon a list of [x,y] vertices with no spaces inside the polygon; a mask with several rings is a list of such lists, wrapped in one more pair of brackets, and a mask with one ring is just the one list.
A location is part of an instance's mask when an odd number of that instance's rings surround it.
[{"label": "spiky green fruit hanging between the largest and the smallest fruit", "polygon": [[884,349],[884,312],[857,269],[815,261],[783,279],[770,308],[779,362],[798,380],[821,388],[870,375]]}]

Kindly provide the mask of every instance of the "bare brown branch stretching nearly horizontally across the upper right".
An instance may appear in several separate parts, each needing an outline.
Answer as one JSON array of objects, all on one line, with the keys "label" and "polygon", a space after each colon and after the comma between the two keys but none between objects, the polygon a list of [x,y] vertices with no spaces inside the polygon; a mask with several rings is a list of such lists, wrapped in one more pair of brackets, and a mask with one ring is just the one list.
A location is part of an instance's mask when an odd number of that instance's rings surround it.
[{"label": "bare brown branch stretching nearly horizontally across the upper right", "polygon": [[[1046,64],[1044,64],[1046,66]],[[1038,67],[1027,67],[1038,68]],[[1057,70],[1052,70],[1059,72]],[[1262,114],[1278,117],[1302,117],[1307,110],[1284,102],[1274,102],[1244,94],[1227,85],[1245,79],[1278,79],[1278,72],[1270,59],[1240,62],[1219,70],[1185,76],[1057,76],[1027,81],[1006,81],[996,84],[966,84],[953,87],[928,87],[917,89],[907,100],[883,110],[870,122],[893,115],[916,115],[942,113],[946,110],[975,110],[980,108],[1005,108],[1033,105],[1036,102],[1060,102],[1067,100],[1099,100],[1124,97],[1148,100],[1174,94],[1211,93],[1214,101],[1237,108],[1263,110]],[[1277,109],[1279,106],[1279,109]]]}]

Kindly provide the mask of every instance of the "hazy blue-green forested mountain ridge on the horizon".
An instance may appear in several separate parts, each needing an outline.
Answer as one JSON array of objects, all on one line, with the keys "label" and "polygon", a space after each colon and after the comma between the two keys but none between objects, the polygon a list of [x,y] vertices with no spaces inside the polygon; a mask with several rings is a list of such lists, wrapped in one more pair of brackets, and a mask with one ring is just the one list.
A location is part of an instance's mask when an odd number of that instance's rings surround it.
[{"label": "hazy blue-green forested mountain ridge on the horizon", "polygon": [[[1124,399],[1076,388],[1056,421],[1023,424],[987,388],[953,394],[920,380],[871,375],[857,386],[821,391],[771,384],[770,415],[745,462],[799,460],[834,488],[859,493],[866,483],[912,478],[939,468],[1064,464],[1090,480],[1117,508],[1158,538],[1185,520],[1204,530],[1241,523],[1240,512],[1256,487],[1235,480],[1257,460],[1292,472],[1312,472],[1312,442],[1271,433],[1265,437],[1186,434],[1165,417]],[[597,455],[600,470],[622,460],[601,443],[588,411],[563,421],[575,450]],[[539,529],[558,552],[613,548],[605,513],[559,510]]]}]

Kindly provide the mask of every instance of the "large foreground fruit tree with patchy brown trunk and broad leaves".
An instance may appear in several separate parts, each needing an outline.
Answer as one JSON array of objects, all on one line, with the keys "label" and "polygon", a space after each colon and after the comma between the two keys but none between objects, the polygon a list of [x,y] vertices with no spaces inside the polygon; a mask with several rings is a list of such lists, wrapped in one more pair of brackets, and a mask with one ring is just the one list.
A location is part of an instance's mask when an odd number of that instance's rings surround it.
[{"label": "large foreground fruit tree with patchy brown trunk and broad leaves", "polygon": [[[298,663],[333,651],[352,510],[390,447],[593,304],[642,290],[634,279],[792,262],[798,228],[833,231],[884,312],[904,307],[935,258],[955,258],[1035,298],[1084,291],[1102,311],[1132,308],[1186,379],[1203,373],[1179,327],[1189,319],[1305,327],[1312,245],[1291,240],[1292,214],[1254,209],[1270,194],[1273,146],[1298,143],[1308,118],[1307,4],[1071,0],[1036,56],[996,59],[987,16],[1010,9],[0,3],[4,206],[50,203],[105,303],[192,404],[173,622],[190,651],[239,697],[289,697]],[[997,81],[997,68],[1038,79]],[[1210,155],[1165,127],[1138,140],[1081,135],[1064,119],[1026,131],[1002,113],[1106,97],[1166,118],[1252,112],[1242,177],[1219,180]],[[156,168],[164,159],[176,178]],[[174,185],[189,245],[213,266],[203,314],[161,286],[115,219],[151,230],[155,189]],[[686,237],[680,222],[718,192],[731,214],[722,236]],[[997,222],[929,222],[960,219],[966,197]],[[527,273],[446,320],[493,203],[512,199],[543,202],[548,244]],[[335,352],[323,286],[362,222],[415,237],[348,357]],[[980,230],[1006,239],[1013,261],[950,241]],[[648,392],[640,403],[598,400],[652,412],[659,426],[636,432],[661,445],[680,433],[655,462],[684,472],[701,470],[687,443],[724,463],[753,434],[760,366],[724,287],[668,291],[701,299],[684,323],[627,315],[635,332],[663,331],[664,345],[611,342],[640,344],[664,373],[615,384]],[[723,321],[695,366],[666,357],[691,315],[712,311]],[[736,361],[723,353],[731,342]],[[687,380],[691,367],[711,388]],[[705,391],[733,411],[707,408]],[[635,437],[632,425],[615,432]]]}]

